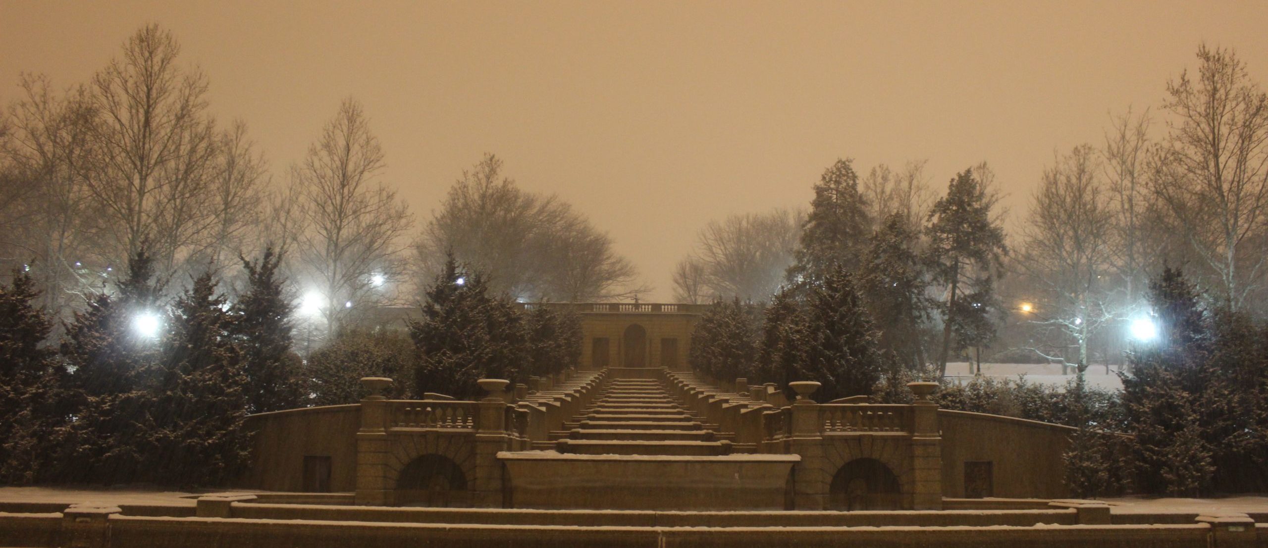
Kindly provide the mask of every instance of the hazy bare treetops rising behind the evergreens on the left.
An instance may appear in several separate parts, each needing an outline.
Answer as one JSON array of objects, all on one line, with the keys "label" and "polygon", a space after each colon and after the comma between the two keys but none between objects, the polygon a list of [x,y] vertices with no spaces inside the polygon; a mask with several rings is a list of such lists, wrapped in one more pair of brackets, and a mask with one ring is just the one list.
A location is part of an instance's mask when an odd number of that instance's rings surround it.
[{"label": "hazy bare treetops rising behind the evergreens on the left", "polygon": [[[520,189],[493,155],[418,228],[351,98],[274,176],[246,123],[216,119],[207,76],[180,53],[169,30],[147,25],[85,84],[23,75],[0,113],[0,268],[46,288],[37,306],[56,320],[113,290],[142,246],[169,298],[207,268],[276,250],[304,355],[345,327],[373,327],[383,306],[413,303],[450,251],[522,301],[645,289],[606,233],[562,198]],[[231,299],[245,284],[233,269],[213,274]]]}]

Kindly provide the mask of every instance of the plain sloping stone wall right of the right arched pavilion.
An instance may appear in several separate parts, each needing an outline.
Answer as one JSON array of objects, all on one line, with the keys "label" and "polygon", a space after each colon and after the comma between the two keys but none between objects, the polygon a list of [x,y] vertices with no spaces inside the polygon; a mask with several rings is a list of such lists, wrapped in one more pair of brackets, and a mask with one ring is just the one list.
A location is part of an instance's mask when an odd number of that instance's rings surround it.
[{"label": "plain sloping stone wall right of the right arched pavilion", "polygon": [[942,429],[942,496],[965,496],[965,462],[990,462],[993,496],[1061,499],[1070,426],[938,410]]}]

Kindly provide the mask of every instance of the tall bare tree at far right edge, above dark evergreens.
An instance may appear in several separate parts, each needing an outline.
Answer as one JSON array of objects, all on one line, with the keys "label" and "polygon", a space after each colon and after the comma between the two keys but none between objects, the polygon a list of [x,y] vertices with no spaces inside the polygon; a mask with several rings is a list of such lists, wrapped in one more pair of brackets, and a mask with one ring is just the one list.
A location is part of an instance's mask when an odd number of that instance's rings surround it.
[{"label": "tall bare tree at far right edge, above dark evergreens", "polygon": [[1198,47],[1196,77],[1169,81],[1154,193],[1238,310],[1268,266],[1268,95],[1230,49]]}]

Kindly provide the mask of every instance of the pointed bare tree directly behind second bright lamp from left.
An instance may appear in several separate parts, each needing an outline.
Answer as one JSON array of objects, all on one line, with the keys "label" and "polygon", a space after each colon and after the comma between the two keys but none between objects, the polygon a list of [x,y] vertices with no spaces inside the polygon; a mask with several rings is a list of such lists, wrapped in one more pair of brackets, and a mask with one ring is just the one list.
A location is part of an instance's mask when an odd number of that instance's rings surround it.
[{"label": "pointed bare tree directly behind second bright lamp from left", "polygon": [[361,105],[340,104],[321,138],[292,169],[303,218],[299,258],[321,294],[326,332],[353,312],[378,306],[380,278],[399,275],[402,240],[413,218],[406,204],[375,181],[383,150]]}]

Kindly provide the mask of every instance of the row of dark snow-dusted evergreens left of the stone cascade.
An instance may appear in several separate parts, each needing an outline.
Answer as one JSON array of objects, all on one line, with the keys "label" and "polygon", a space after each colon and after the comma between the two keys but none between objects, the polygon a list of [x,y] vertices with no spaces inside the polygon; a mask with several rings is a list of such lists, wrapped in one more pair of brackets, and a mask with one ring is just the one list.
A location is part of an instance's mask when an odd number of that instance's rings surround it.
[{"label": "row of dark snow-dusted evergreens left of the stone cascade", "polygon": [[60,337],[29,273],[0,284],[0,483],[224,485],[249,462],[249,414],[355,403],[370,375],[396,379],[396,397],[469,398],[479,378],[526,382],[581,358],[576,315],[522,311],[453,259],[408,336],[345,329],[307,362],[281,255],[241,260],[233,301],[212,269],[166,299],[155,263],[142,246]]}]

